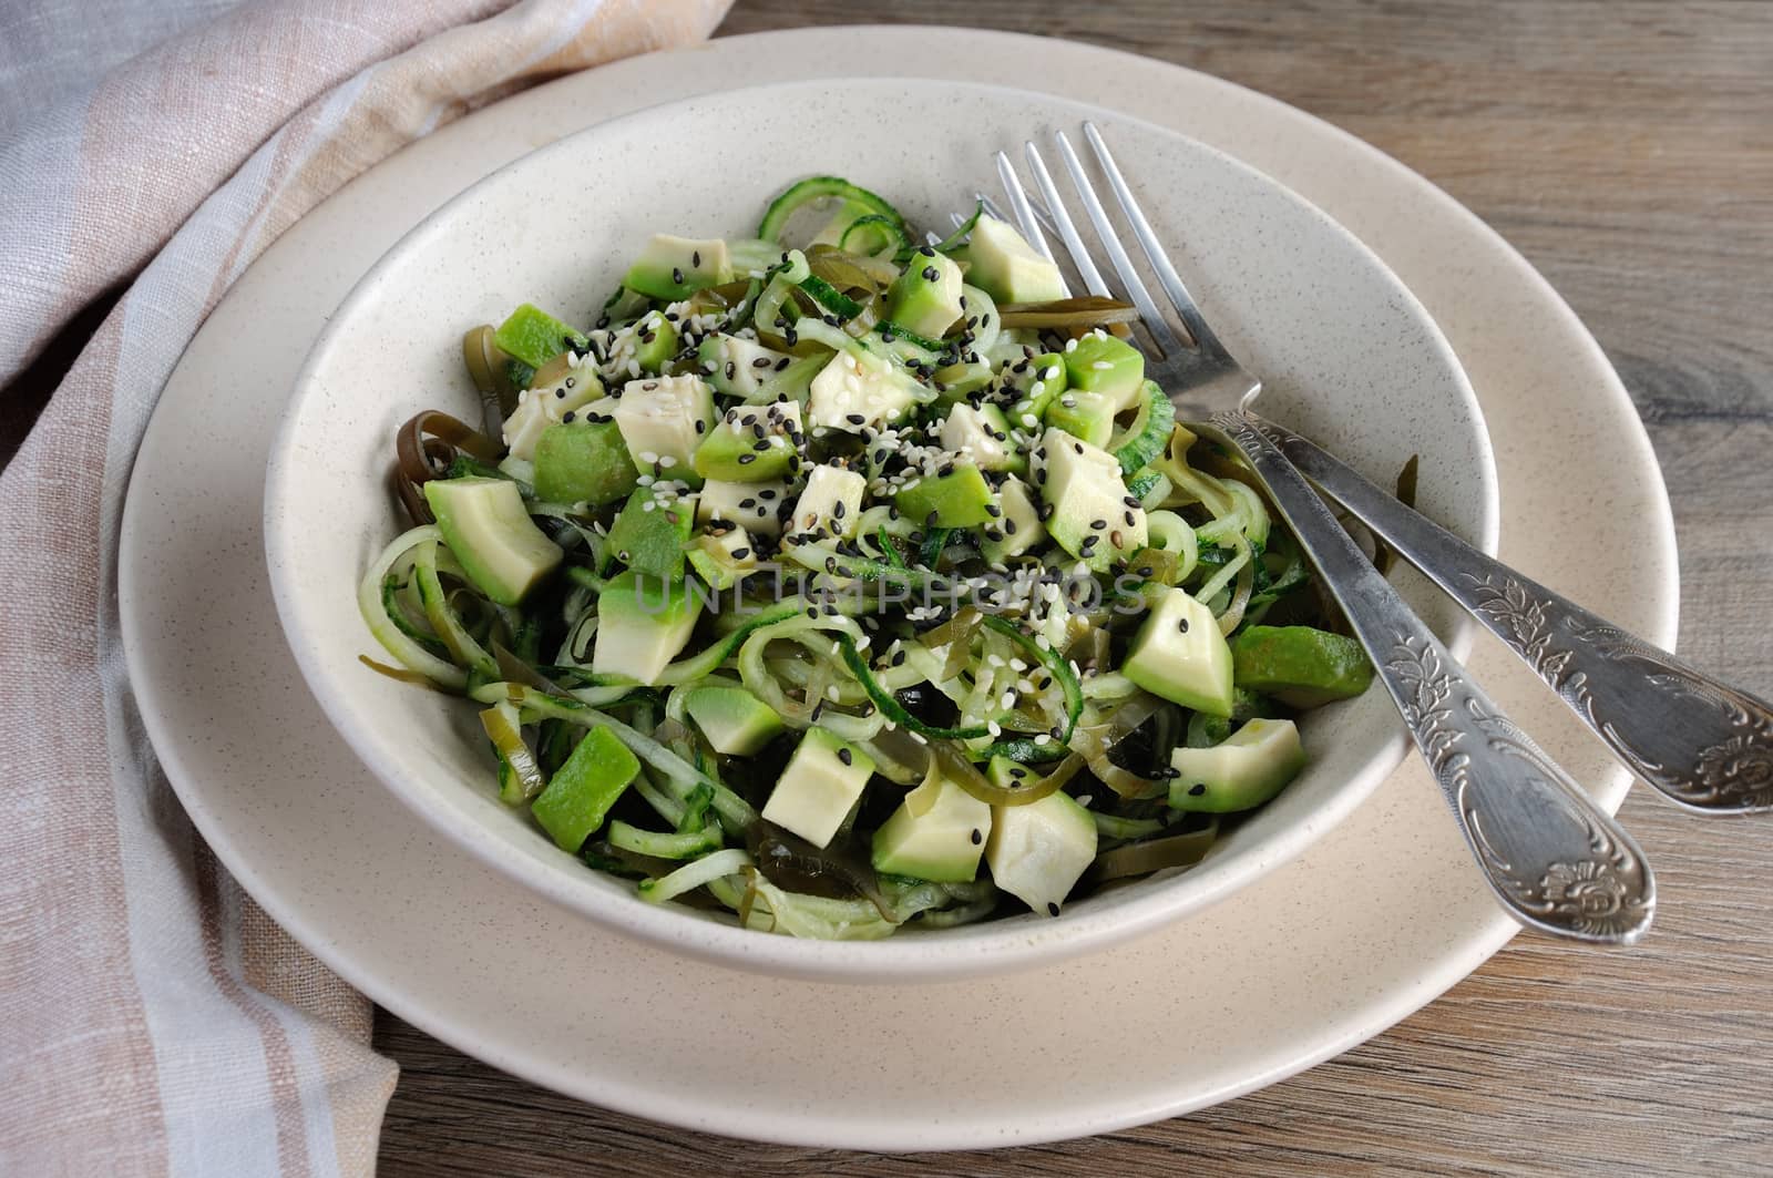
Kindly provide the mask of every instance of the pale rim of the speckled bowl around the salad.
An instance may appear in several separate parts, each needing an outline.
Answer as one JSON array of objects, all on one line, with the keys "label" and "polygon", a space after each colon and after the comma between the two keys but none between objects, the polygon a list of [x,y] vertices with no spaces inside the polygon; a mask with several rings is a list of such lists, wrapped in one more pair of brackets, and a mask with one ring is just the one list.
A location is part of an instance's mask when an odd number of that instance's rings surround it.
[{"label": "pale rim of the speckled bowl around the salad", "polygon": [[[1420,300],[1417,300],[1410,287],[1406,287],[1390,266],[1386,266],[1378,254],[1360,241],[1360,238],[1342,227],[1340,222],[1332,218],[1314,202],[1225,151],[1181,131],[1113,110],[1110,106],[1101,106],[1097,103],[1085,103],[1025,87],[954,82],[943,78],[869,76],[856,78],[856,83],[862,87],[892,89],[904,89],[906,85],[933,85],[961,92],[991,92],[996,96],[1034,99],[1043,106],[1057,105],[1074,112],[1080,119],[1094,117],[1138,126],[1144,131],[1186,142],[1191,151],[1215,158],[1222,167],[1254,176],[1262,185],[1277,190],[1296,206],[1307,209],[1316,220],[1321,222],[1326,232],[1340,236],[1344,243],[1353,247],[1356,254],[1381,277],[1381,280],[1392,287],[1410,318],[1425,328],[1427,342],[1438,353],[1441,364],[1454,374],[1457,394],[1464,403],[1464,410],[1470,413],[1473,440],[1479,449],[1479,484],[1482,488],[1482,502],[1479,504],[1477,513],[1480,534],[1475,543],[1486,554],[1496,552],[1500,534],[1500,491],[1496,483],[1495,454],[1491,449],[1489,429],[1484,422],[1482,406],[1477,401],[1477,394],[1470,385],[1464,367],[1459,364],[1459,358],[1440,325],[1420,303]],[[539,160],[571,153],[583,140],[606,135],[612,128],[660,119],[665,112],[674,108],[699,103],[706,105],[709,101],[727,99],[739,94],[824,89],[828,87],[821,80],[761,82],[757,85],[730,87],[713,94],[699,94],[656,103],[615,119],[582,128],[544,144],[535,151],[525,153],[493,172],[488,172],[426,215],[381,257],[376,259],[376,263],[351,286],[351,291],[337,305],[326,325],[317,334],[296,373],[291,396],[284,404],[282,419],[271,440],[264,481],[262,525],[268,578],[278,623],[284,632],[284,640],[294,655],[305,685],[314,694],[321,711],[326,715],[335,733],[344,738],[351,752],[376,775],[383,788],[392,791],[410,811],[415,811],[420,818],[424,818],[431,829],[441,832],[452,843],[493,866],[507,878],[550,899],[560,908],[590,919],[617,933],[629,935],[647,944],[677,951],[702,962],[814,981],[869,983],[878,981],[883,970],[890,970],[897,981],[947,981],[980,974],[1011,972],[1016,969],[1080,956],[1131,940],[1161,924],[1186,919],[1188,915],[1200,912],[1234,891],[1255,882],[1282,862],[1294,859],[1310,843],[1321,837],[1326,830],[1333,829],[1356,805],[1360,805],[1404,758],[1408,736],[1402,731],[1402,726],[1399,724],[1386,740],[1374,745],[1362,768],[1328,793],[1324,798],[1326,804],[1312,813],[1310,821],[1294,821],[1287,827],[1266,832],[1264,837],[1250,848],[1250,852],[1222,860],[1229,864],[1225,869],[1197,869],[1170,876],[1168,880],[1163,880],[1161,887],[1151,889],[1149,894],[1122,901],[1106,910],[1067,910],[1057,919],[1043,919],[1039,923],[996,921],[975,924],[966,926],[965,930],[956,930],[965,931],[965,935],[957,937],[926,933],[918,937],[888,937],[883,940],[803,940],[796,937],[761,935],[754,930],[745,930],[736,924],[711,921],[697,914],[679,910],[676,905],[652,905],[638,896],[619,896],[621,903],[612,905],[585,903],[585,892],[576,887],[567,887],[567,871],[557,869],[551,864],[537,864],[521,857],[505,855],[502,853],[498,843],[486,836],[482,823],[452,807],[429,804],[431,798],[426,797],[424,789],[410,784],[410,779],[401,772],[401,766],[385,758],[379,745],[367,740],[367,733],[363,731],[365,726],[360,722],[358,715],[344,704],[340,695],[332,690],[323,690],[330,681],[330,674],[319,662],[319,648],[300,640],[300,635],[312,633],[312,628],[300,624],[300,601],[303,594],[298,593],[291,575],[296,562],[289,559],[287,552],[289,532],[278,525],[278,518],[285,514],[285,504],[300,495],[298,465],[291,461],[294,452],[293,435],[301,415],[301,406],[316,389],[316,374],[324,367],[332,349],[356,319],[362,307],[379,294],[381,287],[390,280],[390,275],[399,268],[399,264],[426,248],[434,236],[441,234],[447,222],[452,220],[457,209],[482,195],[488,188],[505,183],[507,177],[518,169],[535,167]],[[1459,614],[1447,633],[1447,646],[1456,655],[1463,656],[1470,648],[1475,632],[1477,623],[1464,614]]]}]

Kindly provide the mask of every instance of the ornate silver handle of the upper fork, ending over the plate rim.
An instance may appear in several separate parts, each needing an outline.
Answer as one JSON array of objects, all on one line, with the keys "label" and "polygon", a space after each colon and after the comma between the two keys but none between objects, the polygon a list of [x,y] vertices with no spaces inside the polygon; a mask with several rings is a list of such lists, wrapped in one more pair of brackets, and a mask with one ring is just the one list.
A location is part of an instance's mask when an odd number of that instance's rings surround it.
[{"label": "ornate silver handle of the upper fork, ending over the plate rim", "polygon": [[1656,880],[1631,836],[1464,674],[1248,415],[1211,426],[1250,459],[1342,605],[1504,907],[1574,940],[1642,937]]}]

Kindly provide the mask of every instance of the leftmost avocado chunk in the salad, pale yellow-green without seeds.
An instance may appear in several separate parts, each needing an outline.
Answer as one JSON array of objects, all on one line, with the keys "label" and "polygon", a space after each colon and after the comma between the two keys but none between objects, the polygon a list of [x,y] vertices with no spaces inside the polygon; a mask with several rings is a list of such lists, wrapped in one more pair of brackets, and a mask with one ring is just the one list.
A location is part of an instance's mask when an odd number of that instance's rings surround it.
[{"label": "leftmost avocado chunk in the salad, pale yellow-green without seeds", "polygon": [[560,564],[511,479],[431,479],[426,502],[468,580],[500,605],[521,603]]}]

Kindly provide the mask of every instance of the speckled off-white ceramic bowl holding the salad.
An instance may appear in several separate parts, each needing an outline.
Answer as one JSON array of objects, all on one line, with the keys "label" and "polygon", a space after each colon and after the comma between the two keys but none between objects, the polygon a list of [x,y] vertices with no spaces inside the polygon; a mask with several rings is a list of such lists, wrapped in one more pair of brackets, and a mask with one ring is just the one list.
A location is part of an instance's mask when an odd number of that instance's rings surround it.
[{"label": "speckled off-white ceramic bowl holding the salad", "polygon": [[[358,758],[449,837],[605,926],[725,965],[846,981],[957,978],[1128,938],[1227,896],[1346,816],[1404,750],[1379,690],[1310,713],[1310,766],[1186,873],[1057,919],[794,940],[645,903],[557,850],[498,802],[472,704],[358,662],[379,649],[356,582],[408,527],[388,490],[394,429],[420,408],[479,413],[463,330],[519,302],[589,323],[647,234],[748,236],[766,199],[808,174],[847,176],[913,222],[945,225],[993,188],[993,151],[1083,119],[1108,135],[1209,321],[1264,374],[1264,412],[1379,481],[1418,454],[1422,509],[1495,550],[1489,440],[1447,341],[1378,257],[1275,181],[1163,128],[1027,90],[904,80],[730,90],[592,128],[480,181],[363,277],[309,355],[271,451],[266,548],[289,644]],[[1470,642],[1470,623],[1420,578],[1395,580],[1456,651]]]}]

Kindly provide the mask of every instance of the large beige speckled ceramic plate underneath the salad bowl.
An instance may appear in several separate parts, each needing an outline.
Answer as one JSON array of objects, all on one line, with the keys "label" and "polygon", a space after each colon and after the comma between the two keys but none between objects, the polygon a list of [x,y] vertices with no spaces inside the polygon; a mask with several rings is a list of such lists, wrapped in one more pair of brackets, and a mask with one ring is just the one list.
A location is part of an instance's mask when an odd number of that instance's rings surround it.
[{"label": "large beige speckled ceramic plate underneath the salad bowl", "polygon": [[[1234,151],[1328,209],[1422,298],[1472,374],[1496,442],[1504,559],[1672,640],[1668,507],[1624,390],[1555,293],[1445,195],[1296,110],[1158,62],[998,34],[808,30],[489,108],[348,188],[241,279],[167,389],[129,491],[121,605],[144,722],[209,844],[323,960],[433,1034],[585,1100],[879,1150],[1092,1134],[1225,1100],[1402,1018],[1512,933],[1413,761],[1294,860],[1115,949],[950,985],[766,979],[603,931],[436,836],[335,740],[284,648],[259,527],[275,415],[238,397],[232,374],[291,380],[374,259],[530,137],[743,85],[764,59],[773,76],[853,69],[862,43],[883,73],[1032,69]],[[1488,642],[1472,665],[1619,804],[1624,775],[1527,672]],[[1151,1002],[1174,1017],[1128,1034],[1119,1011]]]}]

